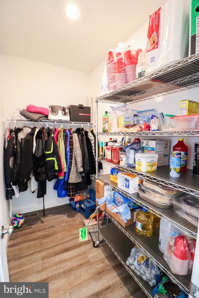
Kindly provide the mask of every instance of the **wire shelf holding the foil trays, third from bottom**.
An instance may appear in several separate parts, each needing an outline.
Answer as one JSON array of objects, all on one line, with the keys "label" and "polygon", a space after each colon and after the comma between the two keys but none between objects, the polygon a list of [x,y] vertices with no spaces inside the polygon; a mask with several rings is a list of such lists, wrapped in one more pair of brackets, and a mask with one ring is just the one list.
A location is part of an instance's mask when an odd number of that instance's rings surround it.
[{"label": "wire shelf holding the foil trays, third from bottom", "polygon": [[174,214],[173,208],[160,209],[160,208],[155,207],[155,206],[151,205],[150,203],[142,200],[139,197],[138,193],[129,194],[128,192],[126,192],[123,189],[121,189],[120,187],[118,187],[116,183],[111,181],[110,175],[100,175],[100,176],[98,176],[98,179],[100,181],[102,181],[103,183],[105,183],[109,186],[112,186],[112,188],[114,190],[120,192],[121,194],[123,194],[123,196],[126,196],[127,198],[129,198],[133,202],[137,203],[141,207],[145,207],[147,210],[149,210],[153,214],[159,216],[160,218],[164,219],[169,224],[172,224],[174,227],[177,227],[178,229],[180,229],[182,232],[186,233],[190,237],[195,238],[195,239],[197,238],[197,227],[194,226],[193,224],[191,224],[186,219],[176,216]]}]

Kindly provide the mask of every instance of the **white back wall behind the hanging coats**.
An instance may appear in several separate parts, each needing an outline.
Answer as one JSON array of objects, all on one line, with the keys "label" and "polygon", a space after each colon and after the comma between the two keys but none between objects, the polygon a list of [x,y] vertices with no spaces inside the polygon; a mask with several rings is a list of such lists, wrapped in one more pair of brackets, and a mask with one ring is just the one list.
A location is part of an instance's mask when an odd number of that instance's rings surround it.
[{"label": "white back wall behind the hanging coats", "polygon": [[[29,104],[44,107],[86,105],[90,81],[89,74],[84,72],[2,55],[2,89],[2,117],[12,118],[16,108],[25,109]],[[68,203],[68,198],[57,197],[57,192],[53,190],[55,181],[47,182],[46,208]],[[42,199],[37,199],[36,193],[32,194],[28,189],[18,198],[13,197],[13,214],[42,209]]]}]

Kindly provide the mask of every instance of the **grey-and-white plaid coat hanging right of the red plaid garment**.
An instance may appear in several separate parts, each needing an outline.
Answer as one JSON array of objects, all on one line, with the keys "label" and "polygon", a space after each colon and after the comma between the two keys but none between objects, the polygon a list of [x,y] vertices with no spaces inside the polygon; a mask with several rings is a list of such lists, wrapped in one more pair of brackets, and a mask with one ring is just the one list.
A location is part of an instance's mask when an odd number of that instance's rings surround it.
[{"label": "grey-and-white plaid coat hanging right of the red plaid garment", "polygon": [[69,176],[69,183],[78,183],[81,182],[81,175],[83,174],[83,166],[82,166],[82,155],[80,149],[80,143],[78,140],[77,134],[72,131],[72,140],[73,140],[73,156],[72,156],[72,167]]}]

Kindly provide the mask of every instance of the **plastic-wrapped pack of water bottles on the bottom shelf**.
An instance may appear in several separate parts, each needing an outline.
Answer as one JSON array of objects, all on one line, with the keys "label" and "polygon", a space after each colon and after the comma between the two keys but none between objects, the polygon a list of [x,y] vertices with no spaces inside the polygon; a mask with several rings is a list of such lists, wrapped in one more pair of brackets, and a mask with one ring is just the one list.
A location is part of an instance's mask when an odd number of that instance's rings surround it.
[{"label": "plastic-wrapped pack of water bottles on the bottom shelf", "polygon": [[151,287],[156,286],[160,282],[162,271],[139,247],[134,246],[132,248],[126,264],[137,275],[148,282]]}]

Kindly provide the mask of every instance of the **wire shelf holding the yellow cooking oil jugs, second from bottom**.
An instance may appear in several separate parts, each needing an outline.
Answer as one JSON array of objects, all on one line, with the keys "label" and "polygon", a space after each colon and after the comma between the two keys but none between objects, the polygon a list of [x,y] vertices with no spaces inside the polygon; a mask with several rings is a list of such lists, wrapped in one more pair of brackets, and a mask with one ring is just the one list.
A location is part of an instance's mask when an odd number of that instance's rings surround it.
[{"label": "wire shelf holding the yellow cooking oil jugs, second from bottom", "polygon": [[[153,234],[151,237],[145,237],[146,239],[143,239],[144,237],[139,236],[135,231],[135,224],[130,225],[126,228],[123,228],[115,219],[112,218],[110,214],[106,212],[106,215],[113,221],[113,223],[124,233],[129,239],[131,239],[132,242],[134,242],[137,246],[141,248],[142,251],[151,259],[154,261],[154,263],[162,270],[164,271],[169,278],[176,283],[183,291],[185,291],[187,294],[189,293],[189,282],[191,281],[191,274],[190,275],[176,275],[172,273],[169,265],[163,258],[162,252],[158,248],[158,242],[159,242],[159,230],[154,229]],[[114,233],[114,228],[109,227],[109,233]],[[118,230],[118,229],[116,229]],[[118,234],[118,233],[117,233]]]}]

